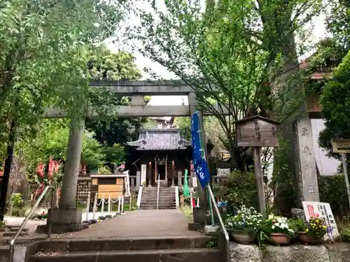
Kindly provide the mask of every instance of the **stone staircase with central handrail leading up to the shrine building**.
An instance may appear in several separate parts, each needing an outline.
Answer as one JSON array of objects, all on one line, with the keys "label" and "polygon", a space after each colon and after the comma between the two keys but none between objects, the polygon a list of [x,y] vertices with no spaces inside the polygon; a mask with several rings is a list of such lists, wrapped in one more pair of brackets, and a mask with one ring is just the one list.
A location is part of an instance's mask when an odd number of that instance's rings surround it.
[{"label": "stone staircase with central handrail leading up to the shrine building", "polygon": [[[165,187],[159,189],[158,209],[175,209],[176,196],[175,187]],[[157,187],[144,187],[142,190],[140,209],[157,209]]]}]

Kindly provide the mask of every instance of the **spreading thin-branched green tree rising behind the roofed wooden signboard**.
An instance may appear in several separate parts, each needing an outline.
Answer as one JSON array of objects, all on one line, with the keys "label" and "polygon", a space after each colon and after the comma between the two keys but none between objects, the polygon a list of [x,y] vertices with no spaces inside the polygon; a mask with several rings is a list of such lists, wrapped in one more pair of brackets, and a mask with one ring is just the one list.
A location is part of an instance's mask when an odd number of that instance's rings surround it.
[{"label": "spreading thin-branched green tree rising behind the roofed wooden signboard", "polygon": [[141,53],[193,88],[199,107],[218,119],[225,147],[244,171],[248,151],[236,146],[235,121],[257,113],[284,121],[305,112],[293,39],[318,2],[206,1],[202,8],[199,2],[165,1],[166,11],[153,5],[152,12],[141,12],[142,26],[133,37],[144,44]]}]

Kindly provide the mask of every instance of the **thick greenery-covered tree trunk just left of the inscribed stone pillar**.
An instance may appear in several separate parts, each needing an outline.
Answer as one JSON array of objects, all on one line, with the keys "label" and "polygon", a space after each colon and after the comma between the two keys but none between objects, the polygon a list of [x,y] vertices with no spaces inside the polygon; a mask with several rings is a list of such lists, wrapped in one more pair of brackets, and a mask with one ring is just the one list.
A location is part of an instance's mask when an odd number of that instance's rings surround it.
[{"label": "thick greenery-covered tree trunk just left of the inscribed stone pillar", "polygon": [[[297,101],[297,112],[291,116],[280,115],[281,119],[288,117],[288,119],[283,122],[280,126],[280,149],[274,152],[274,180],[277,182],[276,191],[279,194],[275,196],[275,207],[281,210],[283,214],[289,214],[290,208],[297,206],[297,195],[298,190],[298,180],[297,180],[297,170],[296,161],[297,159],[297,137],[295,137],[295,128],[293,122],[299,117],[305,117],[307,114],[306,99],[304,98],[304,85],[302,78],[298,75],[299,71],[299,61],[297,60],[297,52],[294,41],[294,34],[290,34],[284,41],[281,41],[281,54],[282,60],[284,62],[282,67],[282,74],[277,75],[276,82],[274,85],[273,92],[283,92],[283,88],[286,88],[286,83],[288,83],[289,96],[293,97],[295,94],[295,99],[300,99]],[[284,86],[283,86],[284,85]],[[294,101],[295,102],[295,101]],[[294,106],[285,104],[283,106]]]}]

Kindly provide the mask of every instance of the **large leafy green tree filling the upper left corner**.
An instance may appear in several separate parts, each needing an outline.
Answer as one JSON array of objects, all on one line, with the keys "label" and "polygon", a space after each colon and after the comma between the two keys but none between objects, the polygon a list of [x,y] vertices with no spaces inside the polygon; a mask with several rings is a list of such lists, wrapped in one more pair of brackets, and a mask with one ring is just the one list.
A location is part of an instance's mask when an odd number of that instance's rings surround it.
[{"label": "large leafy green tree filling the upper left corner", "polygon": [[[0,200],[6,203],[16,133],[26,133],[48,105],[69,117],[85,114],[87,50],[111,36],[122,2],[101,0],[0,3],[0,138],[8,138]],[[28,132],[27,132],[28,133]]]}]

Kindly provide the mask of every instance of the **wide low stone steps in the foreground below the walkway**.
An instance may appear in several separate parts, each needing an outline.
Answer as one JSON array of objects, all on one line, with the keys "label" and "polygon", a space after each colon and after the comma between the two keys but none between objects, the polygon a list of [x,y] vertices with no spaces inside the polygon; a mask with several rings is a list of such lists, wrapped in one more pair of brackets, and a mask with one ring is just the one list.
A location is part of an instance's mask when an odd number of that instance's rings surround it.
[{"label": "wide low stone steps in the foreground below the walkway", "polygon": [[38,242],[30,262],[221,262],[215,240],[198,237],[71,239]]}]

